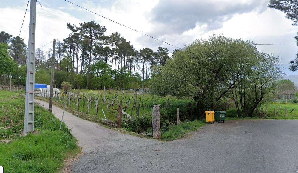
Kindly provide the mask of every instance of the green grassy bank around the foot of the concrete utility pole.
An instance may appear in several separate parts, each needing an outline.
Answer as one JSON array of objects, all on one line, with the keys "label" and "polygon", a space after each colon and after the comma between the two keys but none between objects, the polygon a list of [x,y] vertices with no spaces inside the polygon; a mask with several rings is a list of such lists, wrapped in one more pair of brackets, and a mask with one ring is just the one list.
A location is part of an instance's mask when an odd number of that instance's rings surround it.
[{"label": "green grassy bank around the foot of the concrete utility pole", "polygon": [[4,172],[58,172],[64,160],[80,152],[77,140],[63,123],[35,105],[35,131],[21,135],[24,128],[24,97],[0,91],[0,164]]}]

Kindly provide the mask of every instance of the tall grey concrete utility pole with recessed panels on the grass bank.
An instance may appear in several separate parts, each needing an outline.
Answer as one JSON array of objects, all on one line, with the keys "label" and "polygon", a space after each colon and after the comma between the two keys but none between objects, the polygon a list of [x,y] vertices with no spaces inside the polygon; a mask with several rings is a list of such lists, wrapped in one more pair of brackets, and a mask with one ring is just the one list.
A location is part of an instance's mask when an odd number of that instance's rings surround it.
[{"label": "tall grey concrete utility pole with recessed panels on the grass bank", "polygon": [[24,133],[34,131],[34,81],[35,81],[35,24],[36,24],[36,0],[30,2],[30,27],[27,57],[26,75],[26,101]]}]

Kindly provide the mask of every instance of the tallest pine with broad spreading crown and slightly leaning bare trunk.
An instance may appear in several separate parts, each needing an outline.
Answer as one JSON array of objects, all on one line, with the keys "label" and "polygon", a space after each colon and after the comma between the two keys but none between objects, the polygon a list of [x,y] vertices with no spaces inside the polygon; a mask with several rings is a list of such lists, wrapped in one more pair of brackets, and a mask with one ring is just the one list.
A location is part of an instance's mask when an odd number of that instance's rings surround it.
[{"label": "tallest pine with broad spreading crown and slightly leaning bare trunk", "polygon": [[92,59],[92,48],[93,42],[103,42],[106,39],[104,33],[106,32],[106,27],[101,26],[93,20],[90,22],[80,23],[80,27],[78,28],[81,35],[84,38],[89,39],[89,63],[88,63],[88,71],[87,71],[87,82],[86,89],[89,89],[89,76],[90,76],[90,64]]}]

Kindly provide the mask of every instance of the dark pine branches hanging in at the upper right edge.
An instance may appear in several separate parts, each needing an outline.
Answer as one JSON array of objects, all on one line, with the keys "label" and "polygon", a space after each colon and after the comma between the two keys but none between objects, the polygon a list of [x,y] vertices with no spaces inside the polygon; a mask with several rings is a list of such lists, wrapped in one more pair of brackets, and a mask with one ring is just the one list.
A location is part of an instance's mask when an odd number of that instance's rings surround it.
[{"label": "dark pine branches hanging in at the upper right edge", "polygon": [[[293,25],[298,24],[298,0],[270,0],[269,8],[274,8],[285,13],[285,17],[293,21]],[[298,45],[298,35],[294,37],[296,39],[296,44]],[[298,70],[298,53],[296,58],[290,62],[290,70]]]}]

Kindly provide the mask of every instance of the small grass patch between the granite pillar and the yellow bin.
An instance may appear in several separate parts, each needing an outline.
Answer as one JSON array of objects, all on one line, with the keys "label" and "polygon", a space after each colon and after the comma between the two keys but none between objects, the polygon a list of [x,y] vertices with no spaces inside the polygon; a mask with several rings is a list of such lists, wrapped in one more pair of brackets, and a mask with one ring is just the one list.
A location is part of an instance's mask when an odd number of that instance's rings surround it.
[{"label": "small grass patch between the granite pillar and the yellow bin", "polygon": [[172,141],[183,138],[190,131],[196,131],[198,128],[206,125],[206,120],[185,121],[180,125],[170,125],[169,130],[162,132],[161,140]]}]

